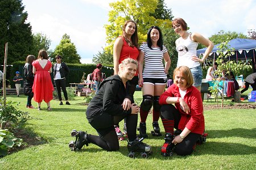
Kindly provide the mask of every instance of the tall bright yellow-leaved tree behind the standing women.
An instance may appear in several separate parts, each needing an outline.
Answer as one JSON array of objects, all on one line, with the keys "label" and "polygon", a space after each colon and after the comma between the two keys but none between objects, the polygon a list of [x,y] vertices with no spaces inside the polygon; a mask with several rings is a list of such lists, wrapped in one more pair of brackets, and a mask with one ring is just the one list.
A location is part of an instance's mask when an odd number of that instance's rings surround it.
[{"label": "tall bright yellow-leaved tree behind the standing women", "polygon": [[[108,45],[103,52],[98,52],[94,56],[96,61],[108,61],[113,64],[113,44],[115,39],[122,35],[122,26],[126,20],[132,19],[137,23],[139,44],[146,41],[147,31],[152,25],[163,25],[164,28],[171,28],[173,16],[171,10],[166,8],[163,0],[122,0],[110,3],[109,6],[113,10],[109,12],[110,24],[105,25]],[[155,14],[155,12],[157,13]]]}]

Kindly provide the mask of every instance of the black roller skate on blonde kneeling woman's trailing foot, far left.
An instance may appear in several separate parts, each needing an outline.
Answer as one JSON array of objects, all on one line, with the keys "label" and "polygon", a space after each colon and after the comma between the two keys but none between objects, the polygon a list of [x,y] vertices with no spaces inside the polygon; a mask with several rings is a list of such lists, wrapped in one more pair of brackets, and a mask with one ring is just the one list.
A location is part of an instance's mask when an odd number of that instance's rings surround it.
[{"label": "black roller skate on blonde kneeling woman's trailing foot, far left", "polygon": [[86,145],[88,146],[88,134],[85,131],[71,131],[71,136],[76,137],[76,141],[69,142],[69,148],[71,148],[71,151],[77,151],[82,148],[82,146]]}]

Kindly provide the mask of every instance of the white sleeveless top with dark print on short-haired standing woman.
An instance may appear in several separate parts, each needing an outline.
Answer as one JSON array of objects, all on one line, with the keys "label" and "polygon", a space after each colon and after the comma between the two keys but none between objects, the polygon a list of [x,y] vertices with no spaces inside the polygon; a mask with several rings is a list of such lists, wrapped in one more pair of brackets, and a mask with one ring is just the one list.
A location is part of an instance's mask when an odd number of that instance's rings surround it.
[{"label": "white sleeveless top with dark print on short-haired standing woman", "polygon": [[178,52],[177,67],[187,66],[191,69],[200,66],[200,62],[195,62],[191,59],[192,56],[196,56],[196,48],[198,45],[198,42],[194,42],[191,40],[191,33],[189,34],[187,39],[184,40],[179,37],[176,42],[176,50]]}]

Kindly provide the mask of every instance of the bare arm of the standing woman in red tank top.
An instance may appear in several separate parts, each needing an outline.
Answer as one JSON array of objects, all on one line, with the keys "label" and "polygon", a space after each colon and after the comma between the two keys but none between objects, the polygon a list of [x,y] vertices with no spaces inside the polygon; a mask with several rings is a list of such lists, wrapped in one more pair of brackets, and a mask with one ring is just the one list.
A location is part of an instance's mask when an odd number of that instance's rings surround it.
[{"label": "bare arm of the standing woman in red tank top", "polygon": [[113,59],[114,59],[114,74],[118,74],[118,65],[119,65],[119,58],[121,54],[123,46],[123,39],[121,37],[118,37],[114,42],[114,48],[113,48]]}]

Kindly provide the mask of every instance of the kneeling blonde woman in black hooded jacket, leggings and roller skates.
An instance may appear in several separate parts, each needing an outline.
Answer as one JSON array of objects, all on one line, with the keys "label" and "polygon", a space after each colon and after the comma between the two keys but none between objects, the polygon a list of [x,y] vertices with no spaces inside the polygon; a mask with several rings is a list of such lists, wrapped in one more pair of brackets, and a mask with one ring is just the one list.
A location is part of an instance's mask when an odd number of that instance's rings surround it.
[{"label": "kneeling blonde woman in black hooded jacket, leggings and roller skates", "polygon": [[133,79],[137,67],[137,61],[127,58],[119,64],[118,75],[110,76],[100,84],[100,90],[86,110],[86,117],[90,125],[97,130],[98,136],[78,131],[74,150],[81,149],[84,145],[88,146],[88,143],[93,143],[107,151],[118,150],[119,143],[114,125],[126,117],[128,150],[151,152],[150,146],[136,138],[139,107],[132,101],[133,97],[127,94],[129,92],[127,80]]}]

